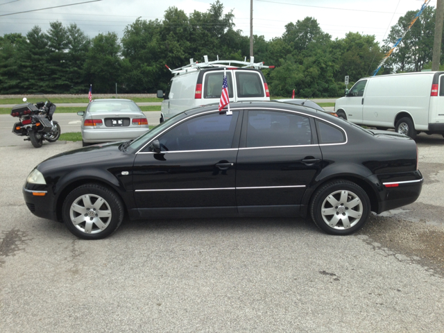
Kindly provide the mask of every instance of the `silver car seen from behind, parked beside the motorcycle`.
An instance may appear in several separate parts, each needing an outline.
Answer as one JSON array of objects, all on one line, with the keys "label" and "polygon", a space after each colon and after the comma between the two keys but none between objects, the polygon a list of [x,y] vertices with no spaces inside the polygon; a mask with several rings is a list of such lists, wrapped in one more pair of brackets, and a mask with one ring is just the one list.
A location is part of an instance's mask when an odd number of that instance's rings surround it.
[{"label": "silver car seen from behind, parked beside the motorcycle", "polygon": [[149,130],[144,113],[130,99],[94,99],[77,114],[82,116],[83,146],[135,139]]}]

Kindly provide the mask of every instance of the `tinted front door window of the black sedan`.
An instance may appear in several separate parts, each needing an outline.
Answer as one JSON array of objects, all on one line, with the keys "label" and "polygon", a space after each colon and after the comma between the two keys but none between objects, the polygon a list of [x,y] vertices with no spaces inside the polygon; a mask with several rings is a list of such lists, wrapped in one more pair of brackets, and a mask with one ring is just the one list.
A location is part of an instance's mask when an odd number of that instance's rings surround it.
[{"label": "tinted front door window of the black sedan", "polygon": [[231,148],[238,111],[205,114],[180,123],[159,137],[162,151],[200,151]]}]

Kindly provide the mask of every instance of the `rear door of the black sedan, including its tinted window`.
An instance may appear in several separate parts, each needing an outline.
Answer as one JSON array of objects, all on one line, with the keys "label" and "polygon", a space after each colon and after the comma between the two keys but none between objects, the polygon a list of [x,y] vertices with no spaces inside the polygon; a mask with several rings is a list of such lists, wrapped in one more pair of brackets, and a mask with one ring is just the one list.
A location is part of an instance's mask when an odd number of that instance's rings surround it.
[{"label": "rear door of the black sedan, including its tinted window", "polygon": [[[240,214],[297,215],[307,185],[321,171],[314,120],[298,112],[248,110],[237,156]],[[255,213],[257,214],[257,212]]]}]

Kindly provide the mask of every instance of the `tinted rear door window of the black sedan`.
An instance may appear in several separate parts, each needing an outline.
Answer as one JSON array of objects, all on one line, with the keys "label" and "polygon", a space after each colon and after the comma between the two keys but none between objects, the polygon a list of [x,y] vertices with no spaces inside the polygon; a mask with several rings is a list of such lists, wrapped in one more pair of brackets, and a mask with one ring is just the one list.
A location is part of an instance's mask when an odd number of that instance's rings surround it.
[{"label": "tinted rear door window of the black sedan", "polygon": [[249,111],[247,147],[311,144],[308,117],[275,111]]}]

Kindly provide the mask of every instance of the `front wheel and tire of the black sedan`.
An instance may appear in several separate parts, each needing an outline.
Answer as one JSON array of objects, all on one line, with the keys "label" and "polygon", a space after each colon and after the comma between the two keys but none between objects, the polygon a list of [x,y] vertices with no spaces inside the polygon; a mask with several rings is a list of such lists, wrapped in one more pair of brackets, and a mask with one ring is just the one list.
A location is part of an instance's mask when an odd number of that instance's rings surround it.
[{"label": "front wheel and tire of the black sedan", "polygon": [[63,221],[69,231],[81,239],[102,239],[116,231],[123,220],[119,196],[98,184],[74,189],[65,198]]}]

